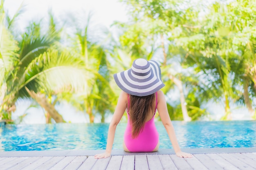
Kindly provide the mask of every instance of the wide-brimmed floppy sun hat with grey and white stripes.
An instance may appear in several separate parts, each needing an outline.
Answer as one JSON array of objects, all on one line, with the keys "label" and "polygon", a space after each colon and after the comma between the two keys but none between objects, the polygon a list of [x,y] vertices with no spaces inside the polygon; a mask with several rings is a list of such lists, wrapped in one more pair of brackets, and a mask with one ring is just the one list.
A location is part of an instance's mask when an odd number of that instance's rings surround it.
[{"label": "wide-brimmed floppy sun hat with grey and white stripes", "polygon": [[165,86],[158,62],[142,58],[134,60],[132,68],[114,74],[114,79],[119,88],[135,96],[148,96]]}]

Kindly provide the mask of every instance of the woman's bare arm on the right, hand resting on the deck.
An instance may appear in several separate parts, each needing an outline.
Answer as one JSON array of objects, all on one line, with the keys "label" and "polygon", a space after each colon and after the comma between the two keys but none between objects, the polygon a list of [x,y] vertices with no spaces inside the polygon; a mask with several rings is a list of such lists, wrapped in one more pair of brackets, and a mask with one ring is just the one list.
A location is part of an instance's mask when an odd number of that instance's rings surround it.
[{"label": "woman's bare arm on the right, hand resting on the deck", "polygon": [[174,130],[173,124],[171,122],[170,116],[168,114],[166,99],[165,99],[164,93],[162,91],[157,92],[157,111],[162,120],[164,128],[166,129],[168,137],[171,140],[171,143],[173,145],[173,149],[174,149],[176,155],[178,157],[192,157],[191,154],[182,152],[180,150],[180,146],[179,146],[177,138],[176,138],[175,130]]}]

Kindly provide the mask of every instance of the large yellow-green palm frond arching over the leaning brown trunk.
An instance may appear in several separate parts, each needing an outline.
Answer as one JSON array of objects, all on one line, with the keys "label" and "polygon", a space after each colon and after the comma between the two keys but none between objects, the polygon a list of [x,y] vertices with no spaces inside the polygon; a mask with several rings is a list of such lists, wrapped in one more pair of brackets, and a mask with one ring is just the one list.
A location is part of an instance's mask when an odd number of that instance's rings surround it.
[{"label": "large yellow-green palm frond arching over the leaning brown trunk", "polygon": [[37,91],[44,88],[55,93],[88,91],[94,76],[81,60],[69,53],[49,50],[28,65],[23,75],[24,83],[20,83],[18,90],[25,86],[37,86],[34,88]]}]

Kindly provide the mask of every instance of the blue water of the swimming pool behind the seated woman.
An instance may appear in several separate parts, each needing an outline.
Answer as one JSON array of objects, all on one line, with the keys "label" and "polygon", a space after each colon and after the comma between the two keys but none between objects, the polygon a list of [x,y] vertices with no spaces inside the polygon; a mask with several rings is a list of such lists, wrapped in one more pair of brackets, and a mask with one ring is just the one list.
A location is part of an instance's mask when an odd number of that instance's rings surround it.
[{"label": "blue water of the swimming pool behind the seated woman", "polygon": [[[162,122],[155,122],[160,148],[172,148]],[[109,124],[0,126],[0,151],[105,149]],[[256,147],[256,121],[173,121],[181,148]],[[126,123],[117,127],[113,149],[123,149]]]}]

